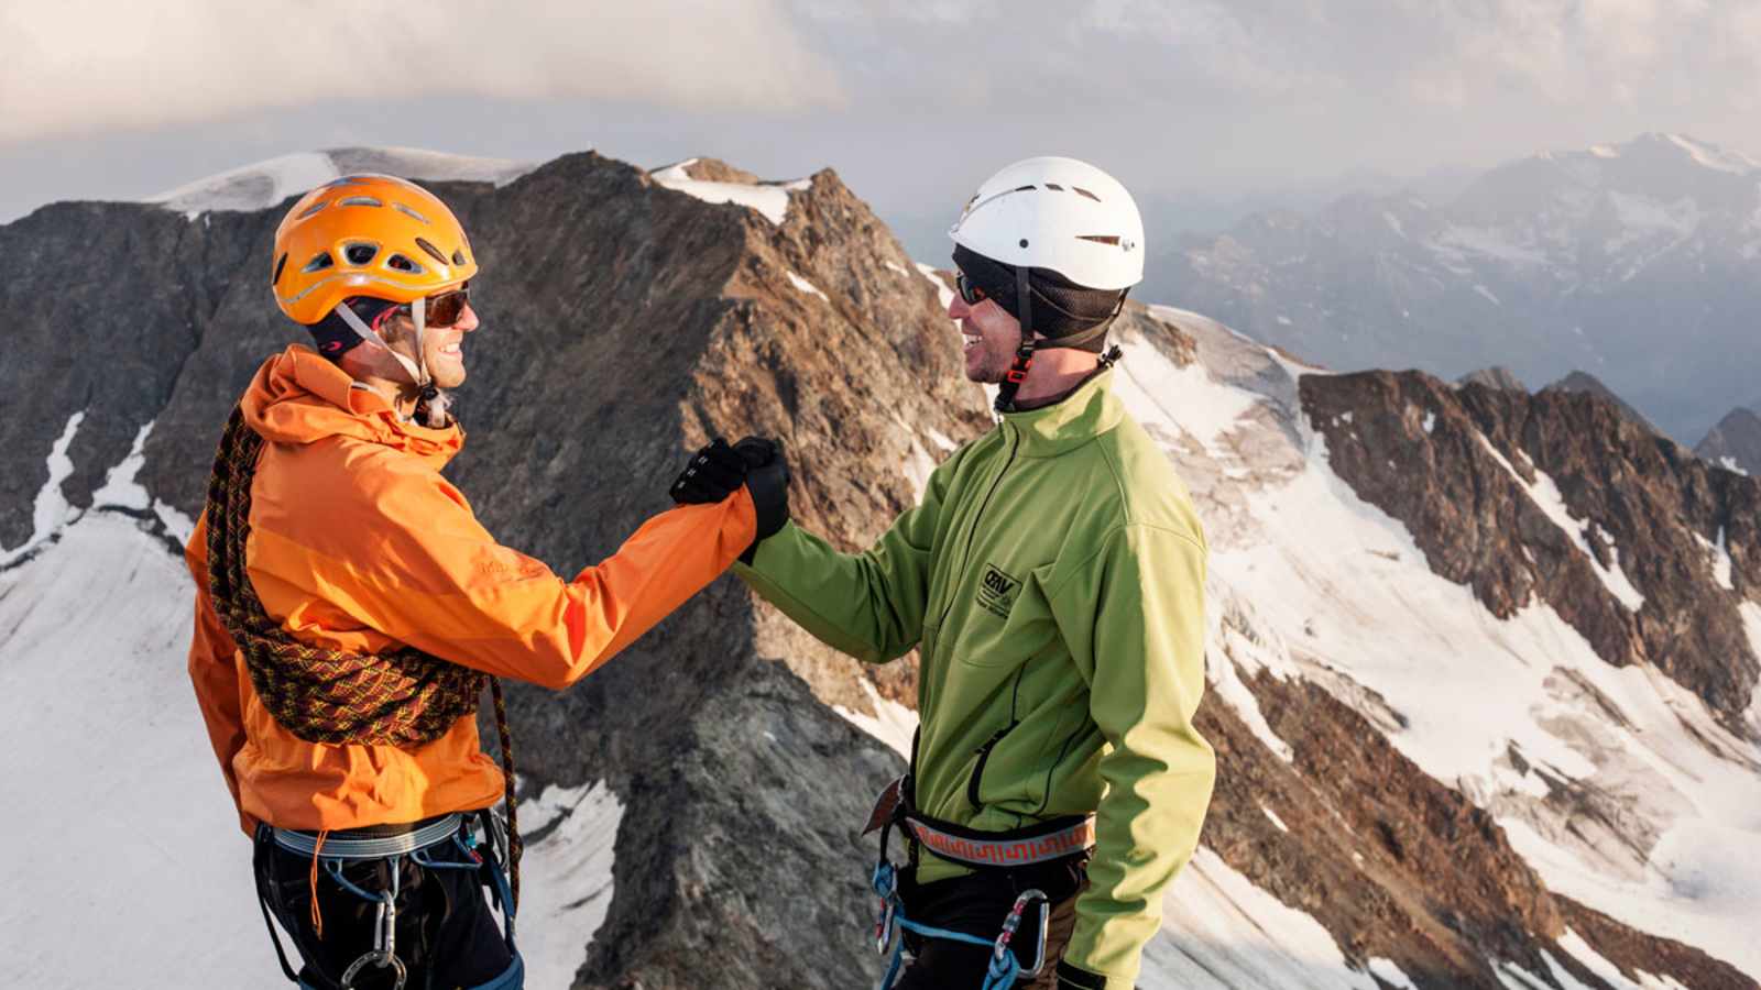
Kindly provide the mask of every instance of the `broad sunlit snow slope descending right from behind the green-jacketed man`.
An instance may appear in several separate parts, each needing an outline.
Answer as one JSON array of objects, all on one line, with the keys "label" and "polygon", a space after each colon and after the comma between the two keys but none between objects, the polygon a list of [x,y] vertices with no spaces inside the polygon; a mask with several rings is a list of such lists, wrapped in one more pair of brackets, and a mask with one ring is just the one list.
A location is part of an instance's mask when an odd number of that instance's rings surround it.
[{"label": "broad sunlit snow slope descending right from behind the green-jacketed man", "polygon": [[[1499,620],[1433,574],[1412,534],[1328,467],[1296,405],[1296,375],[1314,370],[1205,317],[1160,314],[1197,338],[1199,363],[1175,368],[1125,340],[1120,395],[1194,490],[1213,624],[1252,617],[1273,645],[1256,659],[1382,726],[1426,773],[1490,810],[1550,888],[1761,978],[1761,747],[1657,669],[1610,666],[1550,606]],[[1220,636],[1213,625],[1210,655],[1242,664],[1247,654]],[[1254,673],[1213,669],[1212,680]],[[1250,699],[1215,692],[1210,703]],[[1606,794],[1622,814],[1560,814],[1544,800],[1548,780]]]}]

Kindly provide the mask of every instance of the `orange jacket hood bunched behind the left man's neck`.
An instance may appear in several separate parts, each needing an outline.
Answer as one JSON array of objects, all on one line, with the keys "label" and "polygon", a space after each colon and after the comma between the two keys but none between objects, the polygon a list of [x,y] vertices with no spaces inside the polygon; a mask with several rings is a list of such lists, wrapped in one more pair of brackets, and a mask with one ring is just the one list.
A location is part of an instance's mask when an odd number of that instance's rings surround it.
[{"label": "orange jacket hood bunched behind the left man's neck", "polygon": [[298,344],[257,368],[239,407],[245,423],[276,444],[350,437],[419,456],[435,470],[465,446],[458,423],[444,430],[405,423],[382,395],[356,388],[347,372]]}]

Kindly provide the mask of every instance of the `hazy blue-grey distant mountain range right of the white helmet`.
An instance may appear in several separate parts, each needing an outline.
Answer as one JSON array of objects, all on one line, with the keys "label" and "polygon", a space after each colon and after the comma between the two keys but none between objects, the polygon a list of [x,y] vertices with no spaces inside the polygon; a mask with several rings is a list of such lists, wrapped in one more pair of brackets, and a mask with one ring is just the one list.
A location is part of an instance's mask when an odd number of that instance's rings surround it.
[{"label": "hazy blue-grey distant mountain range right of the white helmet", "polygon": [[1761,164],[1645,134],[1257,213],[1162,250],[1143,294],[1338,370],[1581,368],[1694,442],[1761,372]]}]

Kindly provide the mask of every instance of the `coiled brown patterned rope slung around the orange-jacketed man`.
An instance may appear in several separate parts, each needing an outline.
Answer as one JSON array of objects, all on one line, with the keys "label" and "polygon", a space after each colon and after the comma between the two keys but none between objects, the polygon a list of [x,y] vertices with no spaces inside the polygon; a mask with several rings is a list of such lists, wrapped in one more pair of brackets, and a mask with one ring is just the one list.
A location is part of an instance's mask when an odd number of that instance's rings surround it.
[{"label": "coiled brown patterned rope slung around the orange-jacketed man", "polygon": [[[347,308],[347,307],[343,307]],[[483,671],[414,646],[354,654],[296,639],[268,615],[250,583],[250,486],[264,440],[234,407],[208,479],[208,592],[215,615],[245,657],[257,698],[278,726],[308,743],[426,745],[474,715],[488,682],[502,747],[507,802],[507,872],[519,904],[519,819],[514,798],[514,745],[502,683]],[[493,817],[493,816],[491,816]],[[317,904],[317,900],[313,900]]]}]

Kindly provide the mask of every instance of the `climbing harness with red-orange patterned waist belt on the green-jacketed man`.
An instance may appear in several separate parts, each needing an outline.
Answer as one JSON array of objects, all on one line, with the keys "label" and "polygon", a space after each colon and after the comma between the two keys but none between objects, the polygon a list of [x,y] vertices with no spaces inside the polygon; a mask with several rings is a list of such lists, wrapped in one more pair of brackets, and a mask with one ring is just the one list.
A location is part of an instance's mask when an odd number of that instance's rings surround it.
[{"label": "climbing harness with red-orange patterned waist belt on the green-jacketed man", "polygon": [[[875,863],[872,879],[873,891],[880,897],[880,914],[875,921],[875,951],[888,955],[888,946],[893,949],[879,990],[891,990],[903,965],[905,937],[900,932],[991,949],[990,967],[984,971],[981,990],[1009,990],[1023,976],[1039,976],[1046,965],[1046,935],[1051,921],[1051,898],[1044,891],[1037,888],[1021,891],[1014,898],[1014,905],[1004,918],[995,939],[981,939],[965,932],[912,921],[905,916],[905,904],[898,893],[898,867],[889,858],[888,840],[893,835],[893,828],[898,826],[900,831],[910,835],[933,854],[977,870],[1030,867],[1085,853],[1094,844],[1094,816],[1072,816],[1025,830],[986,833],[932,819],[917,814],[910,805],[910,777],[907,775],[893,780],[880,793],[865,830],[865,835],[875,830],[880,831],[880,858]],[[1039,904],[1039,935],[1034,965],[1023,969],[1021,960],[1011,949],[1011,942],[1021,928],[1021,918],[1035,902]]]}]

